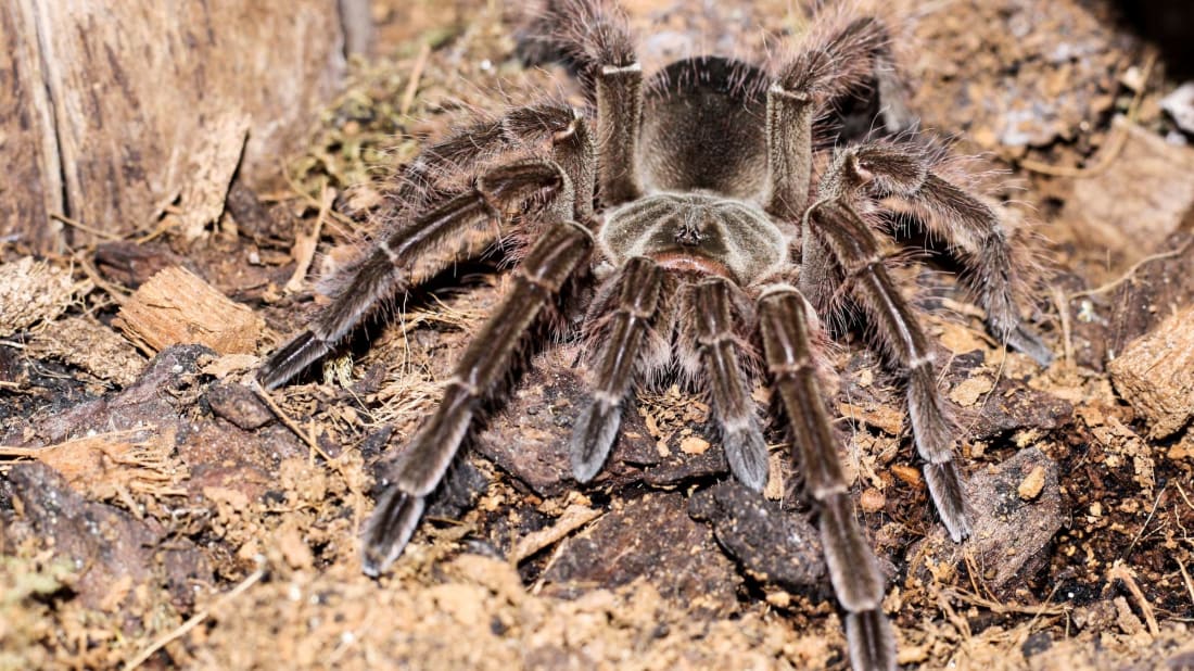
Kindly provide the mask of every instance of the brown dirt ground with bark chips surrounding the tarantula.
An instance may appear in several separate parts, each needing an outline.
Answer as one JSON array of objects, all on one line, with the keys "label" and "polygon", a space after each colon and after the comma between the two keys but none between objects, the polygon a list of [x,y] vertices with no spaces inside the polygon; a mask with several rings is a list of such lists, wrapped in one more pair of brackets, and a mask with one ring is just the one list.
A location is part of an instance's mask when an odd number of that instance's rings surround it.
[{"label": "brown dirt ground with bark chips surrounding the tarantula", "polygon": [[[626,5],[648,68],[778,53],[805,25],[778,1]],[[898,380],[860,337],[833,350],[899,660],[1194,669],[1194,148],[1161,106],[1180,81],[1101,2],[894,13],[911,106],[1004,203],[1057,355],[1041,369],[997,346],[946,261],[898,269],[962,426],[977,533],[955,544]],[[536,91],[580,101],[562,68],[523,64],[497,4],[377,19],[383,56],[355,64],[287,174],[234,186],[197,242],[167,228],[36,260],[0,242],[0,669],[847,667],[778,423],[761,499],[727,481],[698,396],[646,393],[578,487],[572,343],[533,356],[393,572],[362,574],[374,464],[433,406],[506,276],[462,265],[265,398],[247,386],[258,357],[324,302],[318,278],[370,233],[378,180],[427,138]],[[134,291],[171,266],[213,310],[242,306],[216,349],[139,330],[130,306],[171,298]]]}]

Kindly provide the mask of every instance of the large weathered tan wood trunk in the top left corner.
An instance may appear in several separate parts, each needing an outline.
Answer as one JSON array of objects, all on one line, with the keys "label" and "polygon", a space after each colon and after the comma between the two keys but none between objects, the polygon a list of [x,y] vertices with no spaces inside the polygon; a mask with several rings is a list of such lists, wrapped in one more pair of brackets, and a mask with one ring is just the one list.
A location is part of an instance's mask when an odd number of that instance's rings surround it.
[{"label": "large weathered tan wood trunk in the top left corner", "polygon": [[193,183],[276,172],[343,81],[343,35],[337,0],[0,4],[0,235],[49,250],[92,241],[51,214],[124,235],[209,213]]}]

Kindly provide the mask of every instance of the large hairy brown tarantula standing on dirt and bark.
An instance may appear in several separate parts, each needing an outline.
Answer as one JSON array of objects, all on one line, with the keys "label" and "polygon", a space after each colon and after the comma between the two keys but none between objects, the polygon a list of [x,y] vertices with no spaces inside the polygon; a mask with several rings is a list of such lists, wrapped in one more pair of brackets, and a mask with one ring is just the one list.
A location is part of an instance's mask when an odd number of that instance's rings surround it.
[{"label": "large hairy brown tarantula standing on dirt and bark", "polygon": [[[854,517],[823,392],[818,313],[843,301],[860,308],[869,341],[906,380],[929,492],[961,541],[971,525],[934,346],[888,275],[876,232],[885,230],[885,203],[910,205],[968,271],[991,332],[1046,363],[1048,350],[1021,322],[999,217],[943,178],[940,153],[915,141],[888,33],[873,16],[835,14],[770,72],[707,56],[650,79],[623,14],[605,1],[555,0],[531,30],[576,67],[593,109],[517,107],[427,147],[395,190],[394,226],[259,371],[267,388],[287,382],[380,302],[485,251],[494,222],[510,241],[512,288],[461,356],[433,414],[384,467],[364,571],[380,574],[402,552],[519,344],[580,301],[580,319],[554,320],[587,343],[592,394],[570,445],[576,479],[601,470],[636,384],[681,375],[712,398],[733,475],[761,491],[768,454],[750,393],[765,369],[818,512],[853,664],[894,667],[884,579]],[[842,146],[818,170],[814,137],[830,129],[833,140],[831,112],[860,96],[881,101],[882,138]]]}]

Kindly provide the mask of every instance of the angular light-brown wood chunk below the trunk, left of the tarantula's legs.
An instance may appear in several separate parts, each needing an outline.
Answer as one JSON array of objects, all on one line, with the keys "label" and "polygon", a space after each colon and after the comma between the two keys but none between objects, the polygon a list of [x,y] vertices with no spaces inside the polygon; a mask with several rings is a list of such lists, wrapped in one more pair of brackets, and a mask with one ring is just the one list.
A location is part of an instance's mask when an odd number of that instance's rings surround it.
[{"label": "angular light-brown wood chunk below the trunk, left of the tarantula's legs", "polygon": [[113,324],[150,353],[183,343],[207,345],[222,355],[247,353],[257,349],[265,328],[253,310],[178,266],[142,284]]}]

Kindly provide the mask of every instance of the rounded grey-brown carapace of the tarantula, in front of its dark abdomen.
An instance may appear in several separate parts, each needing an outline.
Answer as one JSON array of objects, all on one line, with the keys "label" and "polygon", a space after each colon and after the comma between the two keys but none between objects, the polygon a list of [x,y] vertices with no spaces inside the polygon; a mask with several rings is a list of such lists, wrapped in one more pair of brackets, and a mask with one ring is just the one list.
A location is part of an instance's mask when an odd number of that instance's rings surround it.
[{"label": "rounded grey-brown carapace of the tarantula, in front of its dark abdomen", "polygon": [[665,267],[719,269],[719,275],[749,284],[774,272],[787,258],[788,234],[746,201],[710,193],[656,193],[605,217],[599,240],[616,265],[633,257],[651,257]]}]

